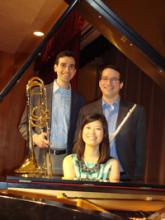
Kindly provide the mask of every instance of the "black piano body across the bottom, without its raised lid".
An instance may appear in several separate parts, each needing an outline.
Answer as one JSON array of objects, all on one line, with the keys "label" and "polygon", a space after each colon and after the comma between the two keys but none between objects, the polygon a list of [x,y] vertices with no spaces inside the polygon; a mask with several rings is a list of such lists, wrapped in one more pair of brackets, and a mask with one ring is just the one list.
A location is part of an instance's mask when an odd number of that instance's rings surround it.
[{"label": "black piano body across the bottom, without its raised lid", "polygon": [[163,213],[165,185],[19,176],[1,181],[1,219],[158,219]]}]

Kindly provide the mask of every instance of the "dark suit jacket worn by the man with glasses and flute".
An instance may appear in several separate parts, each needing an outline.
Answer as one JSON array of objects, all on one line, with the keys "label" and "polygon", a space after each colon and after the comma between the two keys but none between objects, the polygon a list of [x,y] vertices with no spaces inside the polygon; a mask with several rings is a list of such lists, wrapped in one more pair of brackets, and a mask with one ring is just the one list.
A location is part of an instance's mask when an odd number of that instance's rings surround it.
[{"label": "dark suit jacket worn by the man with glasses and flute", "polygon": [[[133,103],[120,101],[117,126],[132,106]],[[103,114],[101,99],[81,108],[76,133],[79,131],[84,116],[91,113]],[[137,105],[135,111],[115,138],[117,154],[128,179],[143,179],[146,152],[145,136],[144,109],[142,106]]]}]

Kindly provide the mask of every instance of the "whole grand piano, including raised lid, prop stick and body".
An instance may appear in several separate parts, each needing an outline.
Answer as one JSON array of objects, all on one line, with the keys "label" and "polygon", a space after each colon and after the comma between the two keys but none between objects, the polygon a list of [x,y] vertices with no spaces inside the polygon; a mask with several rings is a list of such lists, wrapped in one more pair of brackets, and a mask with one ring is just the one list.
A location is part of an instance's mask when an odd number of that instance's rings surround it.
[{"label": "whole grand piano, including raised lid, prop stick and body", "polygon": [[[127,26],[112,10],[110,1],[67,1],[98,26],[112,43],[136,60],[164,88],[164,57]],[[113,5],[115,6],[115,4]],[[84,13],[87,12],[87,13]],[[100,16],[99,21],[96,18]],[[63,19],[63,18],[60,18]],[[60,22],[59,22],[60,23]],[[96,24],[97,23],[97,24]],[[57,26],[54,28],[57,29]],[[53,30],[1,93],[5,96],[42,50]],[[131,44],[134,47],[130,47]],[[155,78],[155,72],[157,76]],[[133,182],[71,181],[10,175],[0,182],[1,219],[164,219],[165,185]]]}]

